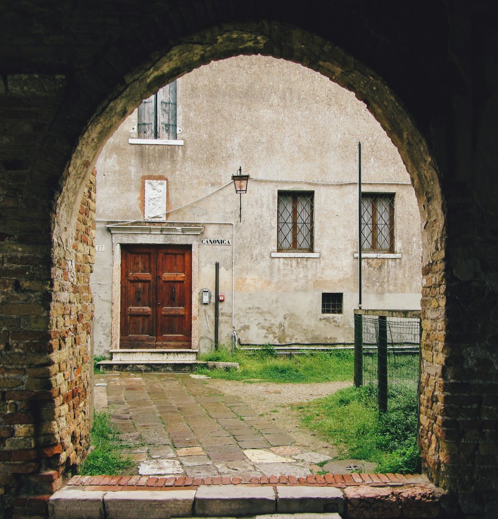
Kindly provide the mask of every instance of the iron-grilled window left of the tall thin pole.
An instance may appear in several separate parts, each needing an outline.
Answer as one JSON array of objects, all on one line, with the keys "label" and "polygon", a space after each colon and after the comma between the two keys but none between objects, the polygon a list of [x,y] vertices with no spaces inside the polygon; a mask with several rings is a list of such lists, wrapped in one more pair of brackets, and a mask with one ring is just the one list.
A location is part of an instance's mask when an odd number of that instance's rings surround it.
[{"label": "iron-grilled window left of the tall thin pole", "polygon": [[313,197],[312,191],[278,192],[278,252],[313,252]]}]

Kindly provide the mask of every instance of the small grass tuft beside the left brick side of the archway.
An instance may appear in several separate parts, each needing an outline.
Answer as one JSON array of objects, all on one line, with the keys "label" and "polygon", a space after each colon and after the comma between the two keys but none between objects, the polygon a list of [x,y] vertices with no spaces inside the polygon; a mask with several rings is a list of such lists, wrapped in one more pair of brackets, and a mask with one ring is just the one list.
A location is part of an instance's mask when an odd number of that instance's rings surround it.
[{"label": "small grass tuft beside the left brick side of the archway", "polygon": [[79,467],[79,473],[85,476],[123,475],[134,466],[133,460],[123,457],[121,451],[129,445],[119,443],[119,432],[110,424],[108,413],[95,412],[91,430],[93,448]]}]

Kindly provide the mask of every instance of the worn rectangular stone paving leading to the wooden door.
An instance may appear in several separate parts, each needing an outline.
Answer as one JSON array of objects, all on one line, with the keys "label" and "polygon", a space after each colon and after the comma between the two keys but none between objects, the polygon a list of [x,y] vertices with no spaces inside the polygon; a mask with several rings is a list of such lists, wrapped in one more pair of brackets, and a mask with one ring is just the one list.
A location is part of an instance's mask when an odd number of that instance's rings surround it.
[{"label": "worn rectangular stone paving leading to the wooden door", "polygon": [[299,477],[331,459],[203,378],[109,373],[95,386],[96,408],[107,407],[120,440],[134,445],[125,454],[140,475]]}]

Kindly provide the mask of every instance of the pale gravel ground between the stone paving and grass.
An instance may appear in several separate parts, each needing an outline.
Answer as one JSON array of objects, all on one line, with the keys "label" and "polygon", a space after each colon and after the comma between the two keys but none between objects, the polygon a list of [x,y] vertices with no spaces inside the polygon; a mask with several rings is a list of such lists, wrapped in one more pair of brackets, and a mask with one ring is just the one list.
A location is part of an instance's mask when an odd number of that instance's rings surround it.
[{"label": "pale gravel ground between the stone paving and grass", "polygon": [[296,440],[296,445],[308,447],[310,450],[334,456],[337,450],[332,445],[305,428],[299,421],[299,412],[295,406],[300,402],[308,402],[349,387],[351,382],[323,382],[318,384],[277,384],[273,382],[251,381],[252,383],[207,379],[210,387],[219,389],[225,394],[243,398],[258,414],[275,420],[275,425],[285,429]]}]

